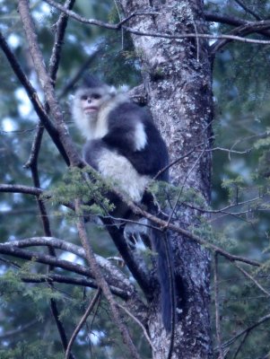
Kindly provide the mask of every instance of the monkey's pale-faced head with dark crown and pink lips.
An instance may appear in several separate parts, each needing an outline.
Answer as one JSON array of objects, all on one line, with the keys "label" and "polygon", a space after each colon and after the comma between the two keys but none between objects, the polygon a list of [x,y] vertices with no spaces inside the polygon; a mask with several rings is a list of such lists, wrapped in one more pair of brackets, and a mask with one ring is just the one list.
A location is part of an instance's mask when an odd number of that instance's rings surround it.
[{"label": "monkey's pale-faced head with dark crown and pink lips", "polygon": [[83,78],[83,84],[74,93],[73,117],[74,121],[86,137],[91,136],[96,125],[100,109],[109,104],[116,95],[116,89],[92,75]]}]

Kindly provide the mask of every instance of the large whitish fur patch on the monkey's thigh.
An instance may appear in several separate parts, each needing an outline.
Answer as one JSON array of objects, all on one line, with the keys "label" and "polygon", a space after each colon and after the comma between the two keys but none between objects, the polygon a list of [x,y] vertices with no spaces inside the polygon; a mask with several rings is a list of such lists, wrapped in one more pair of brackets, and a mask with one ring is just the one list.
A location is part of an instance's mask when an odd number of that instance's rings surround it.
[{"label": "large whitish fur patch on the monkey's thigh", "polygon": [[110,179],[124,194],[139,202],[149,182],[148,176],[142,176],[126,157],[104,149],[100,154],[99,171],[104,179]]}]

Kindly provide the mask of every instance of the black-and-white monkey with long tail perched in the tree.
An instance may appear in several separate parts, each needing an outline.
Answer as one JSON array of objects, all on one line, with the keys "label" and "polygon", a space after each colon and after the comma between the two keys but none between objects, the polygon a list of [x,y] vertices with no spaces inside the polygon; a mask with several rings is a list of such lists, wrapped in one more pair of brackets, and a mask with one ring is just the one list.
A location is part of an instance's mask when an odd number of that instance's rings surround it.
[{"label": "black-and-white monkey with long tail perched in the tree", "polygon": [[[145,196],[145,188],[153,178],[169,181],[169,154],[150,113],[131,101],[125,92],[118,92],[91,74],[83,78],[82,86],[74,93],[72,113],[87,140],[84,161],[105,180],[115,181],[117,188],[135,203],[152,202]],[[152,203],[146,206],[153,207]],[[171,250],[164,248],[158,231],[152,230],[151,242],[152,250],[158,254],[162,321],[170,332],[173,304],[165,268],[168,260],[172,260]]]}]

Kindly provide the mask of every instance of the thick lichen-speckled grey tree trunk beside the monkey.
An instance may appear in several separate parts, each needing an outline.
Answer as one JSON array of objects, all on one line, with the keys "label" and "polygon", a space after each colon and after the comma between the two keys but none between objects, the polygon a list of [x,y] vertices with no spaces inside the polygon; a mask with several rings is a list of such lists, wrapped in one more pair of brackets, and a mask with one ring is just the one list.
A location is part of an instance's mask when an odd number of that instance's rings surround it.
[{"label": "thick lichen-speckled grey tree trunk beside the monkey", "polygon": [[[143,0],[122,0],[121,3],[126,16],[145,9]],[[158,14],[134,17],[133,28],[171,35],[205,32],[201,0],[153,0],[151,5]],[[185,190],[195,188],[208,203],[211,154],[207,150],[212,121],[212,73],[207,43],[198,38],[161,39],[137,35],[133,40],[142,61],[148,104],[169,146],[170,162],[193,149],[199,150],[171,167],[171,181]],[[179,206],[178,213],[179,226],[196,225],[194,210]],[[210,358],[210,256],[207,250],[187,238],[173,234],[172,241],[177,295],[172,358]],[[166,336],[161,327],[159,312],[155,300],[149,317],[154,359],[164,359],[170,346],[170,336]]]}]

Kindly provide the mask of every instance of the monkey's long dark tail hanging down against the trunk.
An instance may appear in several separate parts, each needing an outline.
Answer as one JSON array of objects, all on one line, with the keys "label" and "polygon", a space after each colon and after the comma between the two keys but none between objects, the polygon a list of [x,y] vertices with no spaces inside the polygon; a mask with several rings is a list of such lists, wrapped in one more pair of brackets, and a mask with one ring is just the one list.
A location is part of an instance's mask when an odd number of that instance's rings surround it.
[{"label": "monkey's long dark tail hanging down against the trunk", "polygon": [[152,246],[157,252],[157,272],[161,285],[161,316],[167,333],[174,333],[175,279],[170,235],[152,229]]}]

